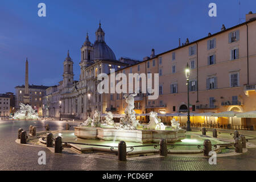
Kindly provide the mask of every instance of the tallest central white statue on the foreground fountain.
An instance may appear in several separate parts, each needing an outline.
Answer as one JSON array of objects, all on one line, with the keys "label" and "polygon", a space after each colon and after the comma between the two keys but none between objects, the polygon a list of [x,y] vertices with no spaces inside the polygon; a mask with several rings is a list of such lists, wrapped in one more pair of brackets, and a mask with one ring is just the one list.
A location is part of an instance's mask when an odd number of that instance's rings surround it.
[{"label": "tallest central white statue on the foreground fountain", "polygon": [[125,109],[125,117],[120,119],[120,123],[117,124],[117,129],[126,129],[126,130],[135,130],[139,126],[139,122],[136,120],[134,109],[134,96],[137,96],[137,93],[125,94],[125,102],[127,107]]}]

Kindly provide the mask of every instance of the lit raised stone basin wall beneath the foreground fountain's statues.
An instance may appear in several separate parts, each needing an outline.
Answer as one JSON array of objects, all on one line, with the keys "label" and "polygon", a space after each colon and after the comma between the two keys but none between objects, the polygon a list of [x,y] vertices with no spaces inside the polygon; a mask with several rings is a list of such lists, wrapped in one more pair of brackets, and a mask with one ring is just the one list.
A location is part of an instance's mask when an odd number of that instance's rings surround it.
[{"label": "lit raised stone basin wall beneath the foreground fountain's statues", "polygon": [[185,138],[185,130],[121,130],[101,127],[74,127],[75,135],[83,139],[101,139],[105,141],[159,143],[160,139],[175,142]]}]

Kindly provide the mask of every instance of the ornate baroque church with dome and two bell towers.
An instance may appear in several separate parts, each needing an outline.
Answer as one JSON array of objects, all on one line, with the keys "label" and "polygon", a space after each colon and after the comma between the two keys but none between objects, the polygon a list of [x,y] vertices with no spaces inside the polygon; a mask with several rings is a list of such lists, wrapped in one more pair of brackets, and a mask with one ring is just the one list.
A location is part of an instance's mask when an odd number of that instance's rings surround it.
[{"label": "ornate baroque church with dome and two bell towers", "polygon": [[95,34],[96,40],[93,44],[90,43],[88,34],[82,44],[79,81],[73,80],[74,63],[68,52],[63,63],[63,80],[58,85],[49,87],[43,97],[44,117],[85,119],[96,109],[104,113],[108,108],[102,95],[97,92],[98,74],[108,74],[110,69],[118,71],[139,63],[138,60],[115,58],[114,52],[105,42],[101,23]]}]

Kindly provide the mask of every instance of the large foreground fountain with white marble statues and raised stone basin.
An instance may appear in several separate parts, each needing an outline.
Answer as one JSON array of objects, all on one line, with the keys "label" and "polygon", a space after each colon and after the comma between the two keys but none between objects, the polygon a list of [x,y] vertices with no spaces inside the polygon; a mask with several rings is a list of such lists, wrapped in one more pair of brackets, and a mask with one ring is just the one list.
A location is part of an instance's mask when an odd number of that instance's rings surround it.
[{"label": "large foreground fountain with white marble statues and raised stone basin", "polygon": [[100,113],[96,110],[93,119],[88,116],[84,123],[74,127],[75,135],[82,139],[101,139],[106,141],[124,140],[125,142],[159,143],[160,139],[167,142],[175,142],[185,138],[185,130],[180,129],[179,123],[172,120],[172,127],[165,126],[157,113],[150,112],[150,122],[142,125],[136,120],[134,111],[134,96],[137,94],[125,94],[123,97],[127,103],[125,116],[119,123],[114,123],[113,114],[109,111],[105,120],[100,119]]}]

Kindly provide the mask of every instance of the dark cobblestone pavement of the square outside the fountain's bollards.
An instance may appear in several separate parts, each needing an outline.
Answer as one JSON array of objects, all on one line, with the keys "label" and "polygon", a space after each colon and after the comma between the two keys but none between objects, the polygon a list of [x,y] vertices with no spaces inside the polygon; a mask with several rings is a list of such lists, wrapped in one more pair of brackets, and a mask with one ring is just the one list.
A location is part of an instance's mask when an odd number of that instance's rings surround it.
[{"label": "dark cobblestone pavement of the square outside the fountain's bollards", "polygon": [[[57,122],[0,121],[1,170],[256,170],[256,148],[249,149],[246,154],[217,158],[217,164],[210,165],[208,158],[192,155],[133,158],[119,162],[117,156],[108,159],[99,154],[54,154],[44,147],[15,143],[20,127],[26,130],[29,125],[44,126],[46,123],[56,125]],[[46,165],[38,164],[38,151],[41,150],[46,151]]]}]

